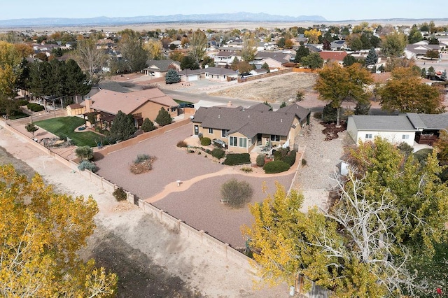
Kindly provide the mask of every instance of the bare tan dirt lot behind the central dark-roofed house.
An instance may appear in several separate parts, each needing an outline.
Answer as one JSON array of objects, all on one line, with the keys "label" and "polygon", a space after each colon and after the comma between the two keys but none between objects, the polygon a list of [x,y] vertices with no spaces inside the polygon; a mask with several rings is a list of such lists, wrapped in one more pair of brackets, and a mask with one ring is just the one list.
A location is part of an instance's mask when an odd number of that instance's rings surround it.
[{"label": "bare tan dirt lot behind the central dark-roofed house", "polygon": [[313,86],[316,83],[316,78],[317,75],[312,73],[286,73],[270,78],[239,83],[235,87],[225,88],[209,94],[255,101],[289,101],[290,99],[295,99],[297,90],[302,90],[306,94],[314,94]]}]

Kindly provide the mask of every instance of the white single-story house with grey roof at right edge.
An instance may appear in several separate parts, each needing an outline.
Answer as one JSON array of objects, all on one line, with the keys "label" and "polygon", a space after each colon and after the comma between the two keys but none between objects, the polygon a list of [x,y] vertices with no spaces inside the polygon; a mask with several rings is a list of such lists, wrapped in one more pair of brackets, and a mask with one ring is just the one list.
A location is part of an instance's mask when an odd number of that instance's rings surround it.
[{"label": "white single-story house with grey roof at right edge", "polygon": [[440,130],[448,127],[448,113],[400,115],[351,115],[347,121],[347,132],[353,141],[372,141],[380,136],[391,143],[405,142],[409,146],[432,145]]}]

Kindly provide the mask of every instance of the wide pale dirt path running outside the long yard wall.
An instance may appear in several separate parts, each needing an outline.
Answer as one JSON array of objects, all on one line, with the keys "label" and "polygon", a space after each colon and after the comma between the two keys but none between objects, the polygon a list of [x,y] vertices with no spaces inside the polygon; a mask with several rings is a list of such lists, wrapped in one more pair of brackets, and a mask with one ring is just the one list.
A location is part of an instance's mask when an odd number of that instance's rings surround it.
[{"label": "wide pale dirt path running outside the long yard wall", "polygon": [[[119,276],[119,297],[288,297],[286,285],[253,289],[250,266],[224,260],[207,247],[169,231],[130,204],[118,204],[97,185],[0,129],[2,164],[37,171],[60,192],[92,195],[99,206],[97,229],[83,250]],[[29,165],[26,166],[24,164]]]}]

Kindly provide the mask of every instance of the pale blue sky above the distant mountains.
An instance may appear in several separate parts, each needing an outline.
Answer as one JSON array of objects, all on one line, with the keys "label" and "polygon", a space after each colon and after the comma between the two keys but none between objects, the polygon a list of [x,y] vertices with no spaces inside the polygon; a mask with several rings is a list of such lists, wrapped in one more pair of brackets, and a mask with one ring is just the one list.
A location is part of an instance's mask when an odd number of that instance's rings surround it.
[{"label": "pale blue sky above the distant mountains", "polygon": [[34,17],[134,17],[207,13],[321,15],[327,20],[448,17],[448,1],[422,0],[3,0],[0,20]]}]

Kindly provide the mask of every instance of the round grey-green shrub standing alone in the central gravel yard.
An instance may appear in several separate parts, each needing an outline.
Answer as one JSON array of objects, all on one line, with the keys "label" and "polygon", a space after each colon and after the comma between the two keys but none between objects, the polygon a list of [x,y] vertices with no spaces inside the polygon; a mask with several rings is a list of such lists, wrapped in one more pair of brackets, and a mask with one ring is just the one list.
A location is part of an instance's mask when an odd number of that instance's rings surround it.
[{"label": "round grey-green shrub standing alone in the central gravel yard", "polygon": [[221,201],[227,202],[234,208],[244,206],[251,200],[253,189],[246,181],[232,178],[221,185]]}]

